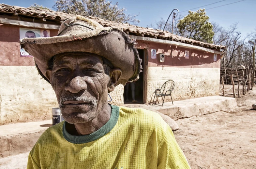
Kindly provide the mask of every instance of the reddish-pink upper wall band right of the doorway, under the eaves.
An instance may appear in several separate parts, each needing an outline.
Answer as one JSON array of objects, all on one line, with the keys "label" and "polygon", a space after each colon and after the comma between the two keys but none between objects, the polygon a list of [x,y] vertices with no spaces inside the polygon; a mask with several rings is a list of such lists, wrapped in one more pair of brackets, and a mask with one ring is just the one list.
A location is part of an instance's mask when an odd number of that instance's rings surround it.
[{"label": "reddish-pink upper wall band right of the doorway, under the eaves", "polygon": [[[149,67],[161,67],[164,65],[165,67],[220,68],[220,54],[217,54],[217,61],[213,61],[213,53],[155,42],[141,40],[137,42],[138,49],[146,49],[148,52]],[[151,49],[157,50],[157,59],[151,59]],[[185,59],[186,50],[189,51],[189,59]],[[164,62],[159,61],[159,53],[164,53]]]}]

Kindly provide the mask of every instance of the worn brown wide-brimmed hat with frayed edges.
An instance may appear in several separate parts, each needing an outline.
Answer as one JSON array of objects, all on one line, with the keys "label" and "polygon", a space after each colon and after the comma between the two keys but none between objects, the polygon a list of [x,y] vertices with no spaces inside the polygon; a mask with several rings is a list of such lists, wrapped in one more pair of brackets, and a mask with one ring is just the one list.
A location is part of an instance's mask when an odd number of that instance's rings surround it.
[{"label": "worn brown wide-brimmed hat with frayed edges", "polygon": [[118,84],[125,85],[137,79],[141,71],[142,60],[136,49],[136,39],[130,39],[119,28],[104,28],[98,22],[82,16],[64,21],[58,36],[23,38],[20,45],[34,56],[39,74],[48,82],[45,72],[50,69],[49,60],[66,52],[87,52],[108,59],[114,68],[122,71]]}]

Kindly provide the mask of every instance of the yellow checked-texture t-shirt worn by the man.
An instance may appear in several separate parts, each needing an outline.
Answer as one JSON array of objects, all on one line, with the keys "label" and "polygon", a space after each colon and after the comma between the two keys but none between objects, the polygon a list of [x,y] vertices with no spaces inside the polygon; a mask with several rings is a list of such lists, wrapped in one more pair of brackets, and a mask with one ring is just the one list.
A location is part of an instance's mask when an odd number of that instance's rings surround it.
[{"label": "yellow checked-texture t-shirt worn by the man", "polygon": [[111,108],[110,120],[90,135],[70,135],[65,121],[48,128],[29,153],[27,168],[190,169],[158,113]]}]

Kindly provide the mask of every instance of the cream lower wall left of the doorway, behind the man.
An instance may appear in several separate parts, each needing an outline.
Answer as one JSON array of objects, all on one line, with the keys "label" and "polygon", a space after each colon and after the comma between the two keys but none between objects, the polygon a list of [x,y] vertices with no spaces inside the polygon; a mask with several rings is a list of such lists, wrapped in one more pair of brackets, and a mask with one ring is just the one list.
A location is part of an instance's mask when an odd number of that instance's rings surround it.
[{"label": "cream lower wall left of the doorway, behind the man", "polygon": [[[52,119],[58,107],[52,86],[35,66],[0,66],[0,125]],[[113,105],[123,105],[124,86],[110,93]]]}]

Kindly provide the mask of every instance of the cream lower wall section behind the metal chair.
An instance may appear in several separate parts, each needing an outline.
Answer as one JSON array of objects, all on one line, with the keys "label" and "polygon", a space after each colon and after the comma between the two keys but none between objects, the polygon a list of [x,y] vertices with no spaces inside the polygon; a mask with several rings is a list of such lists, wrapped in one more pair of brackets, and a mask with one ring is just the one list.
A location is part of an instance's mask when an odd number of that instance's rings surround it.
[{"label": "cream lower wall section behind the metal chair", "polygon": [[[147,103],[155,89],[167,80],[175,82],[173,101],[219,95],[219,71],[219,68],[148,67]],[[170,96],[165,99],[171,101]],[[162,103],[161,98],[158,100]]]}]

